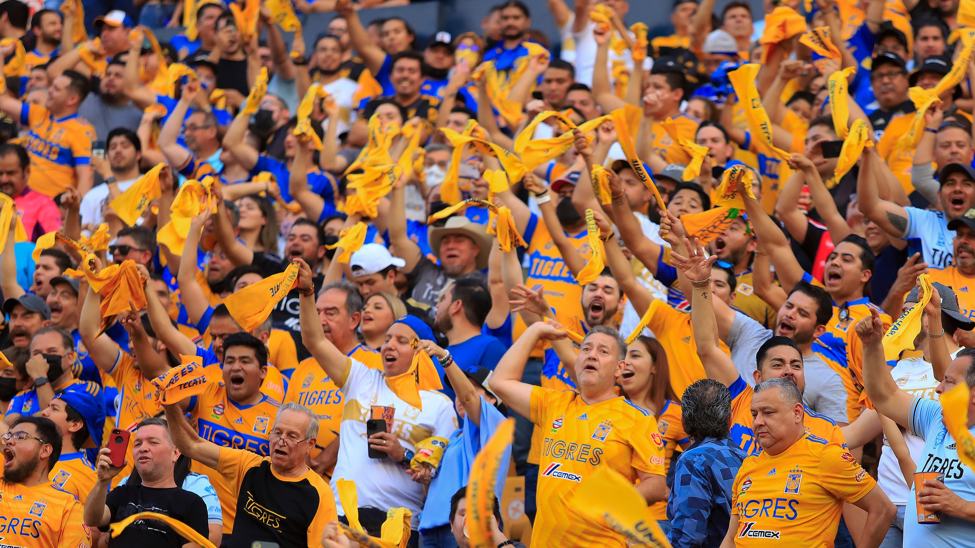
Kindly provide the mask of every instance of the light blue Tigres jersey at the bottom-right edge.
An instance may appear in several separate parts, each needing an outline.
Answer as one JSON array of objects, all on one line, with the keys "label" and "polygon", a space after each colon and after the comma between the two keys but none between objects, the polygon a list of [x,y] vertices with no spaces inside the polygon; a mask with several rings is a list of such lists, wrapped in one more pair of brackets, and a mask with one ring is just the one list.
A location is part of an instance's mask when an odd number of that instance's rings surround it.
[{"label": "light blue Tigres jersey at the bottom-right edge", "polygon": [[[945,475],[945,487],[952,489],[964,500],[975,500],[975,471],[961,463],[955,447],[955,439],[941,421],[941,404],[934,400],[916,397],[908,413],[911,433],[924,440],[924,450],[917,459],[918,472],[941,472]],[[969,428],[975,433],[975,427]],[[923,489],[923,487],[921,488]],[[911,500],[917,490],[911,488]],[[914,509],[912,502],[909,509]],[[975,523],[941,515],[938,525],[920,525],[912,512],[904,516],[905,546],[971,546],[975,535]]]}]

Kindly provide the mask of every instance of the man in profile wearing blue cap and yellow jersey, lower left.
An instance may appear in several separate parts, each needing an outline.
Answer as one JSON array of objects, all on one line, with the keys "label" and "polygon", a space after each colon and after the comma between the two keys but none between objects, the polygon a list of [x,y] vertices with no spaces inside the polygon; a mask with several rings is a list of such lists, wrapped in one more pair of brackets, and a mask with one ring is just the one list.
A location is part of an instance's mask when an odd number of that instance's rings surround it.
[{"label": "man in profile wearing blue cap and yellow jersey, lower left", "polygon": [[88,392],[68,388],[61,390],[48,409],[41,411],[41,416],[54,421],[61,433],[61,453],[51,468],[51,481],[78,500],[88,497],[98,479],[95,464],[83,448],[101,446],[100,423],[104,415],[99,415],[98,410],[103,406]]}]

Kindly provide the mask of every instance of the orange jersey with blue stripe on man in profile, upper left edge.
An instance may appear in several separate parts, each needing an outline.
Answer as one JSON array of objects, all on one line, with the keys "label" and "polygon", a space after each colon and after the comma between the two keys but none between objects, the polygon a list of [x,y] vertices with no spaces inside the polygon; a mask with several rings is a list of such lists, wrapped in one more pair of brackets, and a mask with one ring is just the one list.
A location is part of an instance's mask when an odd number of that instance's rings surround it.
[{"label": "orange jersey with blue stripe on man in profile, upper left edge", "polygon": [[89,165],[95,128],[77,114],[56,120],[47,108],[26,103],[20,109],[20,125],[30,128],[30,187],[50,198],[68,186],[77,187],[74,168]]}]

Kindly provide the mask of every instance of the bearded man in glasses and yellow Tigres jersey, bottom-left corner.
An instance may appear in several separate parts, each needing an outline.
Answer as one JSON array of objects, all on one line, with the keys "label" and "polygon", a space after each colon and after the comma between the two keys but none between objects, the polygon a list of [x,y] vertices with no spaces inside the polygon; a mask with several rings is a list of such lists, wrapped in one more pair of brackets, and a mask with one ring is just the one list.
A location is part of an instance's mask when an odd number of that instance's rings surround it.
[{"label": "bearded man in glasses and yellow Tigres jersey, bottom-left corner", "polygon": [[0,535],[4,544],[24,548],[91,546],[90,529],[75,496],[50,481],[61,440],[58,425],[42,416],[20,417],[3,442],[0,481]]}]

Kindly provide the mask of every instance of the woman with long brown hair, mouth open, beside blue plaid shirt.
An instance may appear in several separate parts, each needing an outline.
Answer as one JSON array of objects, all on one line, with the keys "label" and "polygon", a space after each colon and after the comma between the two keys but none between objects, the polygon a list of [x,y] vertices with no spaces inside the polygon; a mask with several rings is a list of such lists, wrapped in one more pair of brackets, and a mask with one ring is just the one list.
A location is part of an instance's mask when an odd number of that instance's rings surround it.
[{"label": "woman with long brown hair, mouth open, beside blue plaid shirt", "polygon": [[[690,439],[683,431],[681,399],[671,387],[667,354],[660,342],[643,335],[634,340],[627,348],[626,363],[616,381],[622,387],[622,396],[656,417],[657,431],[664,444],[664,469],[669,471],[674,451],[679,446],[681,450],[687,448]],[[651,505],[650,515],[665,528],[666,534],[670,529],[667,501]]]}]

